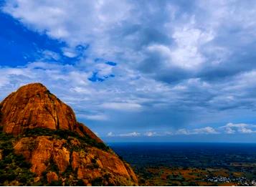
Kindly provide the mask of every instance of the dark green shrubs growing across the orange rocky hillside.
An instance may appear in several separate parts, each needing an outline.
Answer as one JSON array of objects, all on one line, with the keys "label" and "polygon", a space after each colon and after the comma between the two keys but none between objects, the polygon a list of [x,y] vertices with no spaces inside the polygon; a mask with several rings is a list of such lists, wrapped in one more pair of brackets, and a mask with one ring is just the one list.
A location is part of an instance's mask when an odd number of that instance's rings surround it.
[{"label": "dark green shrubs growing across the orange rocky hillside", "polygon": [[[47,170],[42,173],[41,178],[32,173],[29,169],[31,164],[28,163],[22,155],[16,155],[14,153],[13,145],[16,140],[23,137],[36,137],[47,135],[54,139],[65,139],[67,143],[65,147],[69,150],[86,150],[88,147],[96,147],[101,150],[109,151],[110,148],[104,143],[97,143],[89,136],[81,137],[77,133],[73,133],[69,130],[49,130],[46,128],[34,128],[27,130],[24,134],[14,137],[2,132],[0,127],[0,186],[84,186],[82,180],[77,178],[77,172],[73,172],[71,166],[68,166],[65,172],[60,173],[53,160],[49,160]],[[72,145],[70,140],[76,138],[80,141],[80,145]],[[88,165],[89,168],[98,168],[96,163],[97,158],[93,158],[92,165]],[[62,181],[52,181],[47,183],[47,173],[50,171],[57,173],[62,178],[66,178],[65,183]],[[95,186],[103,186],[104,178],[95,178],[92,184]]]}]

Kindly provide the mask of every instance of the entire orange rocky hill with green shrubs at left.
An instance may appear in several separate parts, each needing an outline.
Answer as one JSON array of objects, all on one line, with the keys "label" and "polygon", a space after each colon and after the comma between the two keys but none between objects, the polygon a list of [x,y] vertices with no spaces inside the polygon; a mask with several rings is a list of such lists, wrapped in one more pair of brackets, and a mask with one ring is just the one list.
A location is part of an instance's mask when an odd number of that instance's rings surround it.
[{"label": "entire orange rocky hill with green shrubs at left", "polygon": [[0,104],[1,186],[135,186],[133,170],[44,85]]}]

